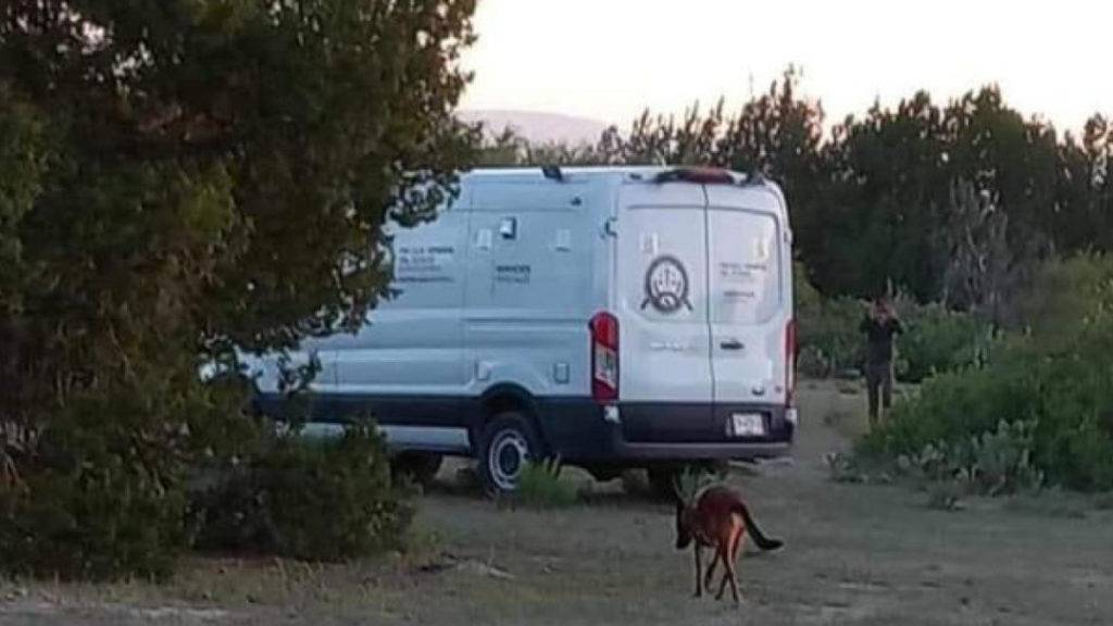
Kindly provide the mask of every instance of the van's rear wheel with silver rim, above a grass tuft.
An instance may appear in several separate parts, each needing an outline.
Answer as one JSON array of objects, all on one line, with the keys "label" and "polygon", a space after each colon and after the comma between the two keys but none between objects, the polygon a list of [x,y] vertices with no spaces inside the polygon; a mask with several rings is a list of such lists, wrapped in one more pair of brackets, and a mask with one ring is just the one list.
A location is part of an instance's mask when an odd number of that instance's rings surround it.
[{"label": "van's rear wheel with silver rim, above a grass tuft", "polygon": [[491,495],[518,489],[518,478],[525,464],[541,454],[533,426],[515,411],[495,415],[483,429],[480,442],[480,479]]}]

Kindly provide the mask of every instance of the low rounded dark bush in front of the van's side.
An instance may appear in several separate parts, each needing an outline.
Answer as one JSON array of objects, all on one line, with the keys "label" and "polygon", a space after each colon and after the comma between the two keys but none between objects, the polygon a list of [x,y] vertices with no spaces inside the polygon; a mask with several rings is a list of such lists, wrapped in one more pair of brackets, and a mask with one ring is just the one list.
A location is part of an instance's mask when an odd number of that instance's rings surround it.
[{"label": "low rounded dark bush in front of the van's side", "polygon": [[275,436],[198,495],[195,545],[337,561],[398,547],[413,517],[371,424],[336,439]]}]

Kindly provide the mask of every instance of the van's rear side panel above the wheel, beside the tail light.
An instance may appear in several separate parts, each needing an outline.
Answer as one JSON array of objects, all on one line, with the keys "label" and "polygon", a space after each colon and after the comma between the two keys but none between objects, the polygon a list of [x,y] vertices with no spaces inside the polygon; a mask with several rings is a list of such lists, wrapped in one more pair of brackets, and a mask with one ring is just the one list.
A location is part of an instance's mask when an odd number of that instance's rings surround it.
[{"label": "van's rear side panel above the wheel, beside the tail light", "polygon": [[483,180],[473,187],[464,303],[472,397],[501,384],[589,395],[598,183]]}]

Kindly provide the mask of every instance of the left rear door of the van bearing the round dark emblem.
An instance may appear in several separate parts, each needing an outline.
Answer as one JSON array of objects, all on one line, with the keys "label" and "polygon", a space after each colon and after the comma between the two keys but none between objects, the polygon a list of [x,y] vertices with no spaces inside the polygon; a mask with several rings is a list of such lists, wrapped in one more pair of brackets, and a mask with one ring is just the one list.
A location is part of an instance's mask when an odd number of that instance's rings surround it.
[{"label": "left rear door of the van bearing the round dark emblem", "polygon": [[623,407],[674,404],[668,417],[646,411],[624,419],[626,434],[700,437],[711,423],[712,402],[703,187],[624,185],[618,222],[620,399]]}]

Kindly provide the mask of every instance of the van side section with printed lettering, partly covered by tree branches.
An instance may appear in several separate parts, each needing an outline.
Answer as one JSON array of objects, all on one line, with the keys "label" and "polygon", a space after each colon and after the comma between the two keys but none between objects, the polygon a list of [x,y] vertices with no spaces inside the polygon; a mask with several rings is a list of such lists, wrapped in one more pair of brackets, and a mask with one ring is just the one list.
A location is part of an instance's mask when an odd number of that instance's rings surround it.
[{"label": "van side section with printed lettering, partly covered by tree branches", "polygon": [[314,399],[314,419],[372,415],[395,449],[467,450],[467,383],[461,307],[466,284],[467,188],[437,218],[393,237],[394,295],[353,335],[335,335],[335,392]]}]

